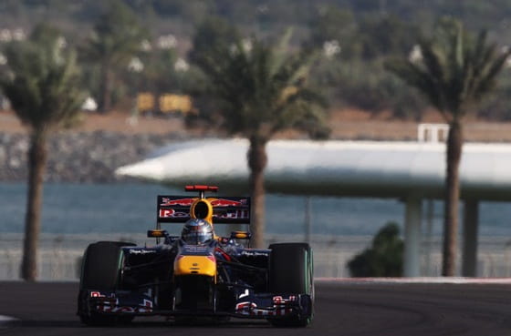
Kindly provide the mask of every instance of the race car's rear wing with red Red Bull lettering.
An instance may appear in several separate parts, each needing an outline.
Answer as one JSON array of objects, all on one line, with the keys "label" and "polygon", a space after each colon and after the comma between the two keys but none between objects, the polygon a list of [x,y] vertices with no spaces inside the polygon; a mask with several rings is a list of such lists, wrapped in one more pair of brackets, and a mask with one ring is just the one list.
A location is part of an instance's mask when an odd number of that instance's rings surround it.
[{"label": "race car's rear wing with red Red Bull lettering", "polygon": [[[184,223],[190,219],[190,210],[200,198],[190,196],[158,196],[157,224]],[[214,224],[250,224],[249,197],[211,197],[204,201],[213,208]]]}]

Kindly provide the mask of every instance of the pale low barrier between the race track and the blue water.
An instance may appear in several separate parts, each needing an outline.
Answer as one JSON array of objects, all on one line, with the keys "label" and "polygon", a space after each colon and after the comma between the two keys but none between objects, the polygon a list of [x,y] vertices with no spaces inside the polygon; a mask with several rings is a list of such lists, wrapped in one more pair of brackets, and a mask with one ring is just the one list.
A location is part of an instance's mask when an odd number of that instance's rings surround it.
[{"label": "pale low barrier between the race track and the blue water", "polygon": [[[153,245],[153,239],[140,239],[141,235],[44,235],[38,254],[38,280],[78,280],[83,251],[91,242],[99,240],[133,241],[139,245]],[[370,246],[369,236],[312,236],[315,276],[318,278],[347,278],[347,262],[354,255]],[[268,244],[279,241],[303,241],[303,236],[269,236]],[[479,239],[479,277],[511,276],[511,248],[501,237]],[[0,280],[19,280],[22,257],[21,234],[0,236]],[[426,258],[427,246],[431,254]],[[437,277],[441,273],[441,239],[431,244],[422,243],[422,276]],[[429,260],[429,265],[426,264]],[[460,262],[458,262],[458,265]],[[459,272],[458,272],[459,273]]]}]

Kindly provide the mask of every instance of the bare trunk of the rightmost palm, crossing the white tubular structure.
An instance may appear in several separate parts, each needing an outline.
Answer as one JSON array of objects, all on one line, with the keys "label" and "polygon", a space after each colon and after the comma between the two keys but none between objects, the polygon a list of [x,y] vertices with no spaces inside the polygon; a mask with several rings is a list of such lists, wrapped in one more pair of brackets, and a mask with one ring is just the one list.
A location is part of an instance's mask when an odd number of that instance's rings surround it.
[{"label": "bare trunk of the rightmost palm, crossing the white tubular structure", "polygon": [[459,168],[462,158],[463,129],[454,119],[447,138],[447,174],[443,209],[443,268],[442,275],[454,276],[458,237],[458,203],[460,199]]}]

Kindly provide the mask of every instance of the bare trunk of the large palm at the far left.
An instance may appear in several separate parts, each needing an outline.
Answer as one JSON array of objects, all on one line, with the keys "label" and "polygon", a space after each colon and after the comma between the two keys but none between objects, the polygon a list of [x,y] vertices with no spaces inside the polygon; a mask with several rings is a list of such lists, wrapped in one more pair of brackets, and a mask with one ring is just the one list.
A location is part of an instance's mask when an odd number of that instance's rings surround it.
[{"label": "bare trunk of the large palm at the far left", "polygon": [[45,131],[34,130],[28,151],[28,194],[26,200],[25,240],[21,277],[35,281],[37,277],[37,243],[40,231],[43,176],[47,160]]}]

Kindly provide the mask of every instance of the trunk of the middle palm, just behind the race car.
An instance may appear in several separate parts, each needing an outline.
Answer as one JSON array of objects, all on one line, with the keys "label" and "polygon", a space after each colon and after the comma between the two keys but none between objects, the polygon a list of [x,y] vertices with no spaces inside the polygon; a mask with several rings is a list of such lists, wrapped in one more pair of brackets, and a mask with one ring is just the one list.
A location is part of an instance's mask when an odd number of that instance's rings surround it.
[{"label": "trunk of the middle palm, just behind the race car", "polygon": [[251,231],[254,247],[265,246],[265,168],[267,164],[266,140],[250,137],[248,167],[250,168],[250,192],[252,195]]}]

